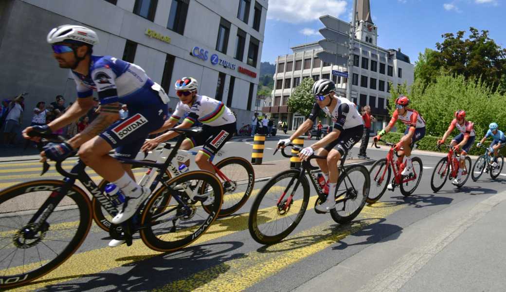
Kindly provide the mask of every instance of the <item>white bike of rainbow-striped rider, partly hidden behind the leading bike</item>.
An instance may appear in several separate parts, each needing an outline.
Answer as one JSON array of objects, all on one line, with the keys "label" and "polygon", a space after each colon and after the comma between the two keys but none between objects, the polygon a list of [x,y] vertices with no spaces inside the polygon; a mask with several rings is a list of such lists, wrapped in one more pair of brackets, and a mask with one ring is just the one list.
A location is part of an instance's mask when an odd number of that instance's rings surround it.
[{"label": "white bike of rainbow-striped rider, partly hidden behind the leading bike", "polygon": [[[156,150],[146,153],[147,155],[140,152],[136,159],[154,162],[160,156],[161,151],[167,147],[170,149],[171,146],[161,143]],[[176,151],[175,160],[169,162],[168,168],[163,175],[163,180],[165,181],[179,176],[181,174],[179,166],[182,164],[189,165],[190,156],[195,156],[197,154],[196,151],[187,151],[182,149],[177,149]],[[222,155],[223,152],[219,151],[216,156]],[[218,217],[229,216],[237,212],[237,210],[246,203],[251,195],[255,185],[255,171],[251,163],[242,157],[227,157],[216,164],[212,163],[213,158],[210,159],[210,161],[215,169],[216,176],[223,185],[223,204],[220,212],[218,213]],[[192,165],[196,164],[193,163]],[[148,182],[150,182],[151,178],[156,174],[156,172],[152,172],[151,168],[147,168],[145,173],[146,174],[139,181],[140,186],[146,186]],[[107,180],[102,180],[98,184],[98,188],[103,191],[108,183],[109,182]],[[95,223],[97,223],[97,225],[106,232],[109,232],[109,227],[112,224],[112,216],[107,213],[107,210],[95,197],[92,198],[92,207]],[[203,208],[204,210],[210,212],[206,206],[203,206]],[[143,209],[144,205],[141,205],[141,213]]]}]

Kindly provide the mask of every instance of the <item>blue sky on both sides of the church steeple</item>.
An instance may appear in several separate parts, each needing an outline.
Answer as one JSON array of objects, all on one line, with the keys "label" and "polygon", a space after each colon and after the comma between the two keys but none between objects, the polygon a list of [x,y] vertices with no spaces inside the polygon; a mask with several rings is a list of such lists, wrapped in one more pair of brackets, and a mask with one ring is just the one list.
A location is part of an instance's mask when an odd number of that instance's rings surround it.
[{"label": "blue sky on both sides of the church steeple", "polygon": [[[289,47],[317,41],[321,15],[350,21],[352,0],[270,0],[265,27],[262,61],[274,63]],[[378,45],[401,48],[411,63],[425,48],[435,49],[441,34],[489,30],[490,38],[506,48],[506,0],[370,0],[371,15],[378,27]],[[466,36],[468,33],[466,34]]]}]

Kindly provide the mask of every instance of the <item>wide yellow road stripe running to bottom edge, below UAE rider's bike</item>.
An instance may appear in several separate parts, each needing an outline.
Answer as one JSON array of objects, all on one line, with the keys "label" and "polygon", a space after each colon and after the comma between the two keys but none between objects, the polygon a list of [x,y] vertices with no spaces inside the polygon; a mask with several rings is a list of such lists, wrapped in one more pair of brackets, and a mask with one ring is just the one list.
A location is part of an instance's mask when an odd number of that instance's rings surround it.
[{"label": "wide yellow road stripe running to bottom edge, below UAE rider's bike", "polygon": [[[364,207],[350,225],[334,227],[329,226],[329,222],[333,225],[333,221],[327,221],[293,234],[284,241],[265,248],[262,252],[252,251],[241,258],[210,267],[153,291],[242,291],[289,265],[334,245],[344,237],[370,224],[380,222],[382,216],[388,216],[405,206],[393,205],[382,208],[381,205],[382,203],[375,204],[373,207]],[[371,216],[373,218],[367,218]]]}]

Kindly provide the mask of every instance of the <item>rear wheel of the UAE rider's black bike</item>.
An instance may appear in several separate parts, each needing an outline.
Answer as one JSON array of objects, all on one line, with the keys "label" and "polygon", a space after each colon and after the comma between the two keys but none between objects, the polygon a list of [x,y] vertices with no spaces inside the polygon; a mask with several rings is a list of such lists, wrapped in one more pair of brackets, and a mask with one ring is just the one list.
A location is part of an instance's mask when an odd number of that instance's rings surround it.
[{"label": "rear wheel of the UAE rider's black bike", "polygon": [[330,210],[332,219],[340,224],[358,216],[369,195],[369,172],[363,165],[352,165],[339,177],[335,187],[336,204]]}]

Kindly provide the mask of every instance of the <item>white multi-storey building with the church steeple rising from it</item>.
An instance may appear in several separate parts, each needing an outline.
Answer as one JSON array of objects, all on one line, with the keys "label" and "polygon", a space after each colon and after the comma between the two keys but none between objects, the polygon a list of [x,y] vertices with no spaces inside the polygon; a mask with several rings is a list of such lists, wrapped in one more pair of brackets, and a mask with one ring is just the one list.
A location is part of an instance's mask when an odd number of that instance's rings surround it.
[{"label": "white multi-storey building with the church steeple rising from it", "polygon": [[[369,105],[372,114],[378,118],[373,131],[382,129],[388,121],[387,99],[390,98],[389,84],[412,84],[414,65],[401,49],[384,49],[377,46],[377,27],[372,23],[369,1],[359,0],[357,9],[357,28],[353,48],[351,98],[359,107]],[[272,106],[263,108],[275,118],[287,120],[289,129],[297,129],[306,117],[299,113],[290,113],[287,100],[294,88],[304,78],[332,79],[336,92],[345,97],[348,79],[332,75],[332,70],[346,72],[347,68],[322,62],[316,53],[322,50],[317,42],[292,47],[293,54],[278,56]],[[389,83],[390,82],[390,83]],[[329,120],[322,123],[330,124]]]}]

